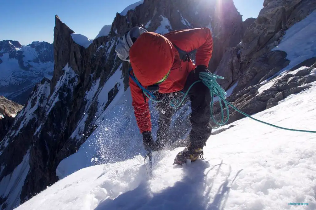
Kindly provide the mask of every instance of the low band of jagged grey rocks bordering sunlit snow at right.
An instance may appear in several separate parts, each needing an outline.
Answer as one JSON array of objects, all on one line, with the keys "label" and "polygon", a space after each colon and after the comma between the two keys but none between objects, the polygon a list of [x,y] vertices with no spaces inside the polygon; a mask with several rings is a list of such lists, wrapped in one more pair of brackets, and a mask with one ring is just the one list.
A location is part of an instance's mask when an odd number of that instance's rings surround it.
[{"label": "low band of jagged grey rocks bordering sunlit snow at right", "polygon": [[[308,89],[311,86],[309,83],[316,81],[316,76],[311,74],[313,68],[316,68],[316,63],[311,67],[301,67],[298,70],[289,71],[289,73],[284,76],[277,77],[273,81],[270,81],[270,83],[273,83],[272,85],[252,85],[228,96],[227,101],[231,102],[236,108],[246,114],[256,114],[276,106],[279,101],[291,94],[296,94]],[[220,119],[221,115],[218,103],[216,103],[214,110],[215,118]],[[230,117],[228,123],[245,117],[233,108],[229,108],[229,113]]]}]

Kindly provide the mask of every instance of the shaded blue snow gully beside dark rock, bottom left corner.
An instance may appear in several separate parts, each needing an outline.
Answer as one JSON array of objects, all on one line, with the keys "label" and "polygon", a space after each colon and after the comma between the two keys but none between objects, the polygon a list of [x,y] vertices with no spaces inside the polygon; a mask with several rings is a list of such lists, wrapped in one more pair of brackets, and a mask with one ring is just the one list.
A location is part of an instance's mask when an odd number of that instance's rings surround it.
[{"label": "shaded blue snow gully beside dark rock, bottom left corner", "polygon": [[24,155],[21,163],[15,167],[13,172],[1,180],[0,193],[2,197],[6,197],[5,203],[7,203],[7,206],[5,207],[3,205],[4,202],[1,202],[1,209],[13,209],[20,204],[20,195],[24,185],[24,180],[30,170],[29,157],[30,149],[27,150],[27,153]]}]

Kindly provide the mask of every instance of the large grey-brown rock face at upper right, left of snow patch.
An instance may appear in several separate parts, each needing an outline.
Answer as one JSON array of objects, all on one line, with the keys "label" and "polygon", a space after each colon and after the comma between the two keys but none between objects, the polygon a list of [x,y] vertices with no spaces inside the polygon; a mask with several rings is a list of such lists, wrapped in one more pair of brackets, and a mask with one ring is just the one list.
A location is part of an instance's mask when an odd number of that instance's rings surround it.
[{"label": "large grey-brown rock face at upper right, left of snow patch", "polygon": [[[241,44],[228,49],[216,69],[224,76],[219,81],[225,90],[238,81],[234,92],[273,76],[289,64],[286,53],[270,51],[285,31],[316,9],[315,1],[264,1],[258,18],[246,29]],[[301,11],[299,15],[296,15]],[[250,20],[249,20],[250,21]]]}]

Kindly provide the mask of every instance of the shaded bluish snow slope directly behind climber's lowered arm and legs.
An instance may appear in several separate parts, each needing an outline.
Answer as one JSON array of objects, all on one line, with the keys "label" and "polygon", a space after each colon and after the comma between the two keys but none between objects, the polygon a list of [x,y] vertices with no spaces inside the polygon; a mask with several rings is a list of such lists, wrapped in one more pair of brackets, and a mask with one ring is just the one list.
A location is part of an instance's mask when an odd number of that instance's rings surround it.
[{"label": "shaded bluish snow slope directly behind climber's lowered arm and legs", "polygon": [[[115,77],[115,74],[112,77]],[[146,153],[143,149],[142,136],[136,124],[131,101],[130,89],[128,88],[125,92],[124,89],[120,89],[109,107],[97,119],[98,128],[87,138],[75,154],[70,155],[59,163],[56,169],[56,175],[59,178],[64,178],[84,167],[127,160],[140,153],[143,155]],[[150,104],[150,110],[151,121],[154,126],[153,137],[156,138],[158,112],[153,107],[153,104]],[[185,131],[185,128],[188,129],[190,127],[189,121],[175,122],[179,115],[185,119],[188,118],[190,113],[191,109],[188,106],[179,109],[171,123],[171,133],[175,129],[174,127],[177,127],[174,126],[175,123],[176,125],[181,124],[182,127],[180,129],[183,131]],[[80,125],[84,125],[86,118],[84,116]],[[78,135],[78,132],[80,131],[76,130],[73,136]],[[177,134],[180,137],[175,140],[181,137],[184,139],[187,134],[187,131],[183,134]]]}]

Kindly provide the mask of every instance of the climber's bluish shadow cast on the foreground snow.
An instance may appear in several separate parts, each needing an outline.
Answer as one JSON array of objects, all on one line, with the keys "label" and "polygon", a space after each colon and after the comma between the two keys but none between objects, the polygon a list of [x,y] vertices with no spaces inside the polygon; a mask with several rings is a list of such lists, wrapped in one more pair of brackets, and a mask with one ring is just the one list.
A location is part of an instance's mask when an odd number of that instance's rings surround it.
[{"label": "climber's bluish shadow cast on the foreground snow", "polygon": [[[228,200],[230,192],[229,176],[231,166],[229,166],[228,175],[225,181],[220,185],[217,192],[211,193],[214,180],[224,164],[223,161],[210,168],[208,161],[196,161],[190,166],[184,167],[185,177],[176,182],[173,186],[168,187],[158,193],[152,193],[148,181],[141,182],[134,190],[127,191],[115,199],[106,199],[101,201],[94,210],[106,209],[197,209],[197,210],[222,210]],[[182,166],[174,166],[182,167]],[[204,173],[207,170],[206,173]],[[233,184],[238,174],[231,182]],[[210,172],[213,173],[209,177]]]}]

